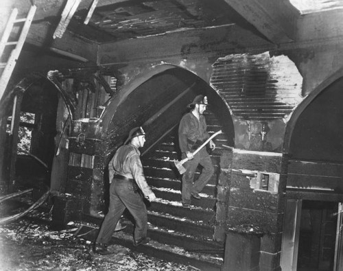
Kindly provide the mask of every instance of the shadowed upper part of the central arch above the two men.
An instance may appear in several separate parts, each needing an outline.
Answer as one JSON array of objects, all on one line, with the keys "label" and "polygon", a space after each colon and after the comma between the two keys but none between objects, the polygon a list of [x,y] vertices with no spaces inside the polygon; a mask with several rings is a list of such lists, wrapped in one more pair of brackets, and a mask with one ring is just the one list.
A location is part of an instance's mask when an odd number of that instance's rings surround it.
[{"label": "shadowed upper part of the central arch above the two men", "polygon": [[125,141],[131,128],[143,126],[147,137],[142,153],[178,125],[187,104],[198,94],[209,97],[233,146],[233,120],[228,105],[195,73],[171,64],[161,64],[135,78],[106,103],[102,117],[104,155],[111,156]]}]

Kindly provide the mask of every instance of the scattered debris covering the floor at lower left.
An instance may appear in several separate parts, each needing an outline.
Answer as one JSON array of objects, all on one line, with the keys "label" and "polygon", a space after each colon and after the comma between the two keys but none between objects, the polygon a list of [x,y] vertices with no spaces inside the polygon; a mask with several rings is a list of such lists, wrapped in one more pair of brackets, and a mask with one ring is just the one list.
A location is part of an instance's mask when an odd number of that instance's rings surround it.
[{"label": "scattered debris covering the floor at lower left", "polygon": [[147,257],[119,245],[111,245],[113,255],[95,255],[91,243],[75,237],[74,227],[50,231],[29,217],[0,227],[1,270],[196,270]]}]

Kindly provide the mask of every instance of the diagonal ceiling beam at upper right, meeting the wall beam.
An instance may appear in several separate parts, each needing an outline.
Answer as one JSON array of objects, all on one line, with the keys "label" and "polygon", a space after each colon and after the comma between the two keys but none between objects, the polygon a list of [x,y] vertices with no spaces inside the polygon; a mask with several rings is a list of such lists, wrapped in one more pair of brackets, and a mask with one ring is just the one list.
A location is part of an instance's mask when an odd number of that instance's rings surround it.
[{"label": "diagonal ceiling beam at upper right, meeting the wall beam", "polygon": [[[298,14],[290,3],[287,4],[286,0],[273,1],[272,4],[266,0],[224,1],[272,43],[281,44],[294,41]],[[287,24],[289,27],[285,28]]]}]

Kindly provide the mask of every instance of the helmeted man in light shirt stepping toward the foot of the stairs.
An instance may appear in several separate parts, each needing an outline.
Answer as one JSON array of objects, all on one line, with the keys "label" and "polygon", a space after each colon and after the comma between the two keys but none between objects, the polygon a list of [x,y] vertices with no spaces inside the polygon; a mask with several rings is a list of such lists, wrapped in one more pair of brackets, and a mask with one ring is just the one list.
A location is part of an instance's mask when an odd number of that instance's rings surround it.
[{"label": "helmeted man in light shirt stepping toward the foot of the stairs", "polygon": [[[128,143],[130,141],[130,143]],[[128,143],[128,144],[126,144]],[[106,244],[112,237],[115,226],[123,211],[127,208],[134,217],[134,246],[146,244],[147,210],[143,196],[148,200],[156,200],[156,196],[145,180],[139,148],[145,143],[145,132],[141,127],[133,128],[108,166],[110,177],[110,204],[108,213],[102,222],[93,251],[102,255],[109,254]],[[143,193],[143,196],[142,196]]]}]

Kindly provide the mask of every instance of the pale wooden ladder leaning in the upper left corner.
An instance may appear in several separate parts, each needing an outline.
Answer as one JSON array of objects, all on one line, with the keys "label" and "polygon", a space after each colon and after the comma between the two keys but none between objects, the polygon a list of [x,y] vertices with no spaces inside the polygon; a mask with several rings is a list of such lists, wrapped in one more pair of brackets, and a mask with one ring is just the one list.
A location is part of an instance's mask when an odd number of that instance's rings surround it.
[{"label": "pale wooden ladder leaning in the upper left corner", "polygon": [[[15,45],[15,47],[10,52],[10,57],[8,58],[8,60],[5,60],[5,62],[0,62],[0,71],[2,70],[0,77],[0,99],[5,92],[8,82],[10,81],[12,72],[16,65],[16,60],[18,60],[19,58],[19,54],[21,53],[21,49],[23,48],[23,45],[25,43],[25,38],[27,36],[27,33],[29,32],[29,27],[32,23],[32,19],[34,18],[36,8],[36,5],[32,5],[29,9],[29,12],[27,13],[27,17],[23,19],[16,19],[16,16],[18,15],[18,9],[14,8],[5,26],[3,36],[0,40],[0,56],[3,57],[6,46],[13,47]],[[8,41],[8,39],[10,38],[10,34],[14,30],[14,27],[16,27],[16,25],[19,23],[23,23],[23,25],[21,27],[21,30],[19,30],[20,34],[18,40]]]}]

